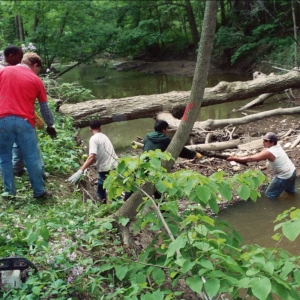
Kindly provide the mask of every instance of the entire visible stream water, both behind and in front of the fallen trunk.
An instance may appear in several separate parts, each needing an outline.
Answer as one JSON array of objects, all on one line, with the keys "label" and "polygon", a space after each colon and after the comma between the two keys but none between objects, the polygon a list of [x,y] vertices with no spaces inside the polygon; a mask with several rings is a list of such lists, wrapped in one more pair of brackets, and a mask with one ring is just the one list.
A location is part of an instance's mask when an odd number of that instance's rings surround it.
[{"label": "entire visible stream water, both behind and in front of the fallen trunk", "polygon": [[[215,86],[220,81],[246,81],[251,78],[244,74],[214,74],[208,77],[207,86]],[[118,72],[101,64],[79,66],[64,74],[59,82],[77,81],[83,87],[92,90],[96,99],[123,98],[137,95],[167,93],[170,91],[188,91],[191,89],[192,78],[164,74],[146,74],[136,71]],[[279,95],[266,100],[263,107],[255,108],[255,112],[288,107],[289,103],[281,101]],[[224,119],[240,117],[240,112],[233,112],[249,100],[230,102],[201,108],[198,120]],[[247,111],[248,112],[248,111]],[[249,111],[252,113],[254,111]],[[278,118],[284,118],[278,117]],[[130,143],[136,137],[144,137],[153,131],[153,119],[138,119],[104,125],[102,132],[112,141],[117,153],[131,147]],[[82,129],[81,136],[88,144],[90,132]],[[299,179],[296,184],[299,187]],[[298,188],[299,189],[299,188]],[[300,192],[300,190],[299,190]],[[219,213],[217,218],[227,221],[242,236],[245,244],[259,244],[262,247],[276,247],[277,243],[271,237],[275,234],[273,223],[278,214],[291,207],[300,208],[299,194],[296,196],[282,195],[279,200],[271,201],[262,195],[256,203],[240,202]],[[299,255],[297,240],[290,242],[283,238],[278,247]]]}]

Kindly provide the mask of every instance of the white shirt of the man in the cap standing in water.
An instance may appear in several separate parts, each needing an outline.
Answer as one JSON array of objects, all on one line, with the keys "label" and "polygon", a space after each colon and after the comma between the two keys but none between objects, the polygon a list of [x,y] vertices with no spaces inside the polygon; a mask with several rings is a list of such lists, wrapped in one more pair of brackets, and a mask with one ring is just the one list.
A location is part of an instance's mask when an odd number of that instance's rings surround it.
[{"label": "white shirt of the man in the cap standing in water", "polygon": [[280,179],[289,179],[296,168],[285,151],[279,144],[274,145],[267,150],[275,156],[275,160],[273,162],[268,160],[274,175]]}]

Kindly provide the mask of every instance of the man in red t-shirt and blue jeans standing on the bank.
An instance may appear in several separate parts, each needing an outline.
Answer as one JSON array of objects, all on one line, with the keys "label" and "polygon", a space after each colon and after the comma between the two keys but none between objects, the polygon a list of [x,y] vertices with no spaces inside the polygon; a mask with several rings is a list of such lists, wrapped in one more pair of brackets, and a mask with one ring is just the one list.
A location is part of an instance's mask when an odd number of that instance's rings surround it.
[{"label": "man in red t-shirt and blue jeans standing on the bank", "polygon": [[17,143],[27,166],[33,196],[48,196],[38,161],[37,137],[34,122],[34,103],[39,101],[47,132],[56,133],[53,115],[48,107],[46,90],[37,76],[42,66],[36,53],[26,53],[21,64],[0,70],[0,162],[3,196],[15,196],[12,168],[12,147]]}]

